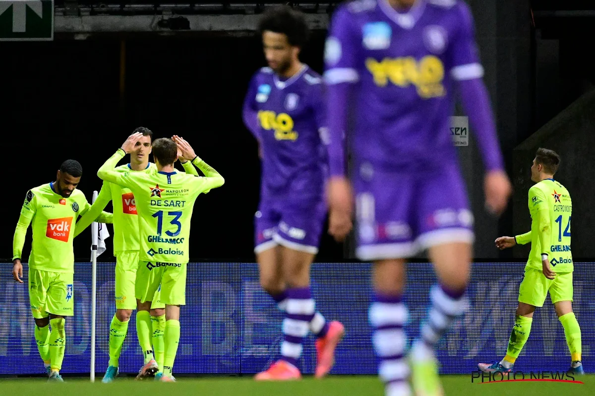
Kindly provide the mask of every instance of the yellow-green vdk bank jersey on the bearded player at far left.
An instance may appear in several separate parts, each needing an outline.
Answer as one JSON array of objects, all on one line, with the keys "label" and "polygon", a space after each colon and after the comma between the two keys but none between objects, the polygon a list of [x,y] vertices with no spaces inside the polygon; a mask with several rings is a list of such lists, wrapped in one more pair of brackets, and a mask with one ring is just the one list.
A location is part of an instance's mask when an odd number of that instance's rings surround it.
[{"label": "yellow-green vdk bank jersey on the bearded player at far left", "polygon": [[[27,228],[31,224],[33,242],[29,267],[56,273],[73,273],[76,219],[89,208],[89,202],[78,189],[68,198],[57,194],[52,183],[30,189],[14,232],[12,259],[22,259]],[[100,217],[103,223],[111,223],[111,214],[104,213]]]}]

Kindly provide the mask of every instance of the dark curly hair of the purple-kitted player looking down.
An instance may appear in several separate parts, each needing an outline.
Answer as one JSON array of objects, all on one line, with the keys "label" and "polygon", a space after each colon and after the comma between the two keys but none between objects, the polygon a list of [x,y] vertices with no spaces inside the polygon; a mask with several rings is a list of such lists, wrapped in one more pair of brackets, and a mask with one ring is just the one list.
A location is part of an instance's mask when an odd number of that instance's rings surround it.
[{"label": "dark curly hair of the purple-kitted player looking down", "polygon": [[292,46],[303,47],[308,41],[308,24],[303,12],[296,11],[289,5],[267,8],[258,23],[260,36],[265,30],[285,34]]}]

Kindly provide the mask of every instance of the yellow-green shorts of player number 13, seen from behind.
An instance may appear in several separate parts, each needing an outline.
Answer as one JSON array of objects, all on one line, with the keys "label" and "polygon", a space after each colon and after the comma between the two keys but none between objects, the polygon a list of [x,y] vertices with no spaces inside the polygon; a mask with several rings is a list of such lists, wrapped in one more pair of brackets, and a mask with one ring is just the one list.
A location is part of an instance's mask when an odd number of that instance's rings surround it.
[{"label": "yellow-green shorts of player number 13, seen from behind", "polygon": [[161,285],[161,302],[186,304],[186,263],[140,261],[136,271],[136,298],[149,301]]}]

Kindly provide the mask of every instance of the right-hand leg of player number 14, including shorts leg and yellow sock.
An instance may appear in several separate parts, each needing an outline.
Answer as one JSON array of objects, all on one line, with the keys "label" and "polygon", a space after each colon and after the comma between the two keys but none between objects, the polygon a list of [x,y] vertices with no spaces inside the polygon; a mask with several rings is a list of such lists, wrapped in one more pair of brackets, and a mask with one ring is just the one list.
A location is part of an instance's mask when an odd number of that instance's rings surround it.
[{"label": "right-hand leg of player number 14, including shorts leg and yellow sock", "polygon": [[552,281],[549,289],[552,302],[556,308],[556,314],[564,328],[566,343],[571,354],[571,368],[569,371],[575,374],[584,374],[581,358],[581,327],[577,318],[572,312],[572,273],[559,273]]}]

